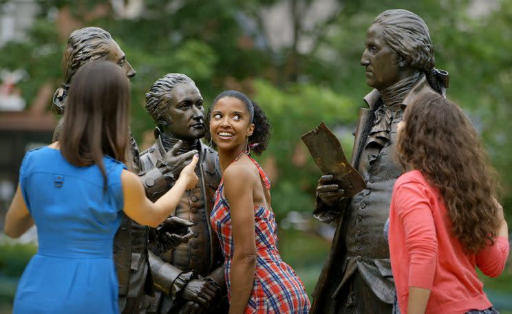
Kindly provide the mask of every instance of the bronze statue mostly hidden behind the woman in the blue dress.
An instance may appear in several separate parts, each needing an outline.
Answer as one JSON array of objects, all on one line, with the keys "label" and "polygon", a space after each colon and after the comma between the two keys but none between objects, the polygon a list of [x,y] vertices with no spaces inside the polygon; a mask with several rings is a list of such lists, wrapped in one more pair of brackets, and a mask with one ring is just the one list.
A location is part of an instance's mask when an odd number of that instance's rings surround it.
[{"label": "bronze statue mostly hidden behind the woman in the blue dress", "polygon": [[[72,32],[67,41],[63,56],[64,83],[59,87],[53,97],[52,111],[62,115],[65,110],[65,101],[72,78],[79,67],[92,60],[111,60],[125,70],[129,78],[135,76],[135,71],[126,60],[125,53],[111,38],[111,35],[98,27],[85,27]],[[64,118],[59,120],[53,141],[58,140]],[[138,172],[138,147],[134,137],[130,133],[131,149],[127,162],[131,171]],[[167,221],[167,230],[178,232],[189,223],[179,218],[171,218]],[[123,216],[121,225],[114,238],[114,260],[119,282],[119,309],[120,313],[145,313],[144,295],[153,293],[153,281],[147,258],[147,227],[138,225],[127,216]],[[180,234],[171,236],[178,245],[186,240]]]}]

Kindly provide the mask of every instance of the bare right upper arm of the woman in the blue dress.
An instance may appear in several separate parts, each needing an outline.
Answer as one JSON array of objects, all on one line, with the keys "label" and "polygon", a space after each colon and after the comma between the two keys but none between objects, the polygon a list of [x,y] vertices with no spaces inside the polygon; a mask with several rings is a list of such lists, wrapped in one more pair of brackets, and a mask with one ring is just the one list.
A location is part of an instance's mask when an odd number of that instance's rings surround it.
[{"label": "bare right upper arm of the woman in the blue dress", "polygon": [[122,210],[125,214],[141,225],[153,223],[154,219],[151,218],[153,203],[147,199],[144,186],[138,176],[128,170],[122,170],[121,186],[124,204]]}]

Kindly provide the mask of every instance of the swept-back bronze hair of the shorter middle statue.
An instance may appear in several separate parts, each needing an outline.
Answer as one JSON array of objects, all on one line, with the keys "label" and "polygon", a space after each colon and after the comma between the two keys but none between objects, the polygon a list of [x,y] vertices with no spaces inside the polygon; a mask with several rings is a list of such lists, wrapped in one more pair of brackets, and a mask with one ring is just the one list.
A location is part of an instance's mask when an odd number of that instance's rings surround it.
[{"label": "swept-back bronze hair of the shorter middle statue", "polygon": [[156,80],[149,92],[146,93],[144,107],[157,124],[165,120],[165,114],[169,110],[169,100],[172,97],[172,91],[176,85],[181,83],[191,83],[195,86],[195,82],[188,76],[179,73],[169,73],[163,78]]}]

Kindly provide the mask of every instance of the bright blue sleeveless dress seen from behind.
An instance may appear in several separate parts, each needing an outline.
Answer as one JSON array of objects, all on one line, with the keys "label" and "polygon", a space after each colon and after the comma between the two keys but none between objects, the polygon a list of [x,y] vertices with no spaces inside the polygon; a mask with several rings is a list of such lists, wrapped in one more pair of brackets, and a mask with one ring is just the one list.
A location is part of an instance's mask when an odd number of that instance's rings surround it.
[{"label": "bright blue sleeveless dress seen from behind", "polygon": [[73,166],[60,150],[46,146],[23,158],[19,182],[39,249],[19,281],[14,314],[119,313],[112,250],[126,167],[110,157],[103,163],[106,192],[98,166]]}]

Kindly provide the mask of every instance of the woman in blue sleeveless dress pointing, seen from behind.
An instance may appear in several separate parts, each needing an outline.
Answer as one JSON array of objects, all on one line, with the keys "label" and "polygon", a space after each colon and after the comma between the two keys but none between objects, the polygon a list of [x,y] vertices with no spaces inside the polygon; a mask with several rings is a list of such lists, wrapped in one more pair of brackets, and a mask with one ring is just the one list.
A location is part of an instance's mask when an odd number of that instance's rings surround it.
[{"label": "woman in blue sleeveless dress pointing, seen from behind", "polygon": [[122,211],[156,227],[198,182],[194,157],[169,192],[155,203],[146,198],[122,164],[129,96],[118,65],[84,65],[70,87],[60,141],[23,158],[5,232],[16,238],[35,223],[39,249],[19,281],[14,314],[118,313],[112,252]]}]

